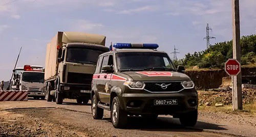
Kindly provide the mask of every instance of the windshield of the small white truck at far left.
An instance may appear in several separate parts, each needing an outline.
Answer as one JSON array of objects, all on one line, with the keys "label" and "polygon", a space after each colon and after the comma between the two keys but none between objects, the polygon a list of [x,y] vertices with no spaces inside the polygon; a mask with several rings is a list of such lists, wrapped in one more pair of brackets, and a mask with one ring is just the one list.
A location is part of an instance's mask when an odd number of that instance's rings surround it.
[{"label": "windshield of the small white truck at far left", "polygon": [[23,72],[22,80],[31,83],[44,83],[45,73]]}]

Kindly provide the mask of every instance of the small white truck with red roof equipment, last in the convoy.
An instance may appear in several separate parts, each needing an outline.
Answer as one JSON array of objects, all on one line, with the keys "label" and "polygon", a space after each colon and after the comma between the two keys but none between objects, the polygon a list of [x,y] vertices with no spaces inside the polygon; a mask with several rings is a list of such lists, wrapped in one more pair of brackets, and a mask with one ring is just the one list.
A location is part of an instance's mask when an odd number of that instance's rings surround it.
[{"label": "small white truck with red roof equipment, last in the convoy", "polygon": [[19,76],[19,90],[28,90],[28,97],[44,100],[46,96],[46,92],[42,91],[44,77],[42,66],[25,65],[24,71]]}]

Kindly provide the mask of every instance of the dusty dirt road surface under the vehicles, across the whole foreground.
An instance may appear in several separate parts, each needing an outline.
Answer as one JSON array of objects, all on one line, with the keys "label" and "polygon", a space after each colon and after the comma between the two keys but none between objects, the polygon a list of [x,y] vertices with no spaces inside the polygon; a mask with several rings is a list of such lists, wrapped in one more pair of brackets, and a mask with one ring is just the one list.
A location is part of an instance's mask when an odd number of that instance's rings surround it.
[{"label": "dusty dirt road surface under the vehicles, across the whole foreground", "polygon": [[0,102],[2,109],[0,134],[2,136],[232,136],[230,134],[254,136],[256,134],[256,120],[252,116],[208,112],[200,112],[196,128],[183,128],[178,119],[160,116],[157,122],[130,118],[127,129],[115,129],[109,112],[104,113],[103,120],[93,120],[90,105],[78,105],[71,100],[67,101],[70,103],[63,105],[45,100]]}]

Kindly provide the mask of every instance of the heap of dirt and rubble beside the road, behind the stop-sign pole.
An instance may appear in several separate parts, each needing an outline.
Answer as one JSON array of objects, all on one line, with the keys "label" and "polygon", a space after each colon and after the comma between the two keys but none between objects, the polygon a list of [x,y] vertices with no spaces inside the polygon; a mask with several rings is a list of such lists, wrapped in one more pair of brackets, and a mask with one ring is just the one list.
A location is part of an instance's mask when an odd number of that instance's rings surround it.
[{"label": "heap of dirt and rubble beside the road, behind the stop-sign pole", "polygon": [[[215,105],[216,103],[222,103],[223,105],[232,104],[232,91],[226,92],[198,92],[199,105]],[[256,102],[256,90],[243,89],[242,91],[243,103]]]}]

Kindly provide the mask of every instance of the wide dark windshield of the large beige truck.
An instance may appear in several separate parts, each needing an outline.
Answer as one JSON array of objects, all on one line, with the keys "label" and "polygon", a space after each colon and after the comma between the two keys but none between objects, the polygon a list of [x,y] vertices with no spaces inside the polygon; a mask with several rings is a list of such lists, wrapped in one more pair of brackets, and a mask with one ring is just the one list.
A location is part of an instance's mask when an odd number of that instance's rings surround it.
[{"label": "wide dark windshield of the large beige truck", "polygon": [[96,64],[98,57],[103,51],[86,49],[86,48],[68,48],[67,62],[82,63],[82,64]]}]

